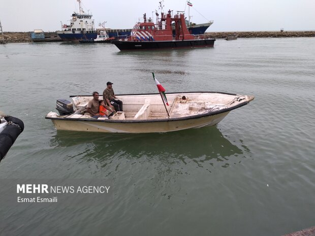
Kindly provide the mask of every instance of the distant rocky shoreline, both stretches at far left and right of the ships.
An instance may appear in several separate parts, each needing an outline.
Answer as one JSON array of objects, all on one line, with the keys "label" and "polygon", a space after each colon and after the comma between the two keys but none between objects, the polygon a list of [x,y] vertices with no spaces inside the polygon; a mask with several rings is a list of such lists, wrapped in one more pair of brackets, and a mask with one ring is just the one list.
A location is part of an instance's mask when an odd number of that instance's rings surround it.
[{"label": "distant rocky shoreline, both stretches at far left and right of the ships", "polygon": [[[7,43],[27,43],[30,40],[31,32],[4,32],[0,34],[1,41]],[[297,38],[297,37],[315,37],[315,31],[230,31],[230,32],[205,32],[205,36],[213,39],[224,39],[228,36],[237,35],[238,38]]]}]

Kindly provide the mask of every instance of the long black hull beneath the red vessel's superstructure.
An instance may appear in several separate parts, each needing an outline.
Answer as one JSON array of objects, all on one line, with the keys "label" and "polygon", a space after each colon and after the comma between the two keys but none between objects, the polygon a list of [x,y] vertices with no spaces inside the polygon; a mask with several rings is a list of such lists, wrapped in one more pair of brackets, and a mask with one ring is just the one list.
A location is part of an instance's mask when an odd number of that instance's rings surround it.
[{"label": "long black hull beneath the red vessel's superstructure", "polygon": [[120,50],[150,50],[169,48],[213,47],[215,39],[182,41],[112,41]]}]

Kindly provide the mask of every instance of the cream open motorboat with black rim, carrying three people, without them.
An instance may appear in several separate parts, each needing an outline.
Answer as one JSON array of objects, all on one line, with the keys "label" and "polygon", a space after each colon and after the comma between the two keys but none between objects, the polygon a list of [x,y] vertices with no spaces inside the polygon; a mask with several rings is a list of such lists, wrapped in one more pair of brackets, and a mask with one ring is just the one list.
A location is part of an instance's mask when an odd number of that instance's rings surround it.
[{"label": "cream open motorboat with black rim, carrying three people, without them", "polygon": [[159,93],[116,95],[123,102],[123,112],[117,112],[110,119],[94,119],[88,113],[82,114],[92,96],[71,96],[73,102],[57,100],[60,115],[49,112],[45,118],[52,120],[57,130],[170,132],[216,125],[230,111],[254,99],[254,96],[220,92],[180,92],[166,95],[170,105],[168,107],[164,105]]}]

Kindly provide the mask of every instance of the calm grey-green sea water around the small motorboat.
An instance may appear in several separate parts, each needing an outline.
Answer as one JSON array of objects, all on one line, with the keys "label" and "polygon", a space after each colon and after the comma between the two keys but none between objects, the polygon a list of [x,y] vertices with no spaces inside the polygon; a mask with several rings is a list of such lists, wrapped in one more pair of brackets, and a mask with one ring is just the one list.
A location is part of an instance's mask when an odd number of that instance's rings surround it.
[{"label": "calm grey-green sea water around the small motorboat", "polygon": [[[0,110],[25,129],[0,163],[1,235],[282,235],[315,225],[315,38],[214,48],[0,45]],[[215,127],[154,134],[56,131],[56,98],[167,89],[253,94]],[[110,185],[104,199],[17,203],[16,180]]]}]

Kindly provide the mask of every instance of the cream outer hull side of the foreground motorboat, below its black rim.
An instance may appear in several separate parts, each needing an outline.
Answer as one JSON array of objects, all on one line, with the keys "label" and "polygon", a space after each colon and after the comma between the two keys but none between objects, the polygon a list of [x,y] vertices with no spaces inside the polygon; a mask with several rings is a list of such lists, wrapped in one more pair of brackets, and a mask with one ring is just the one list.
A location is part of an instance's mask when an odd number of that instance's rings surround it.
[{"label": "cream outer hull side of the foreground motorboat, below its black rim", "polygon": [[216,125],[228,112],[172,121],[147,121],[147,122],[104,122],[100,120],[65,120],[62,118],[51,118],[57,130],[105,132],[105,133],[154,133],[171,132],[189,128],[200,128]]}]

